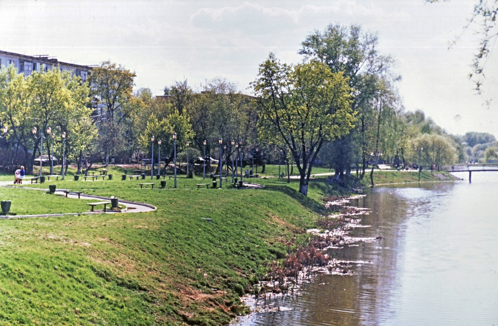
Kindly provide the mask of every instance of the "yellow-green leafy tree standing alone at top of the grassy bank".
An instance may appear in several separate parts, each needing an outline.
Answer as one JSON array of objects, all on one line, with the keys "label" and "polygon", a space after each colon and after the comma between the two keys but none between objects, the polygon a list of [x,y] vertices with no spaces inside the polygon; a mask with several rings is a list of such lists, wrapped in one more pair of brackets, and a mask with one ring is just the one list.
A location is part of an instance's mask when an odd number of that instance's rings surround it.
[{"label": "yellow-green leafy tree standing alone at top of the grassy bank", "polygon": [[260,136],[285,144],[299,170],[299,192],[308,193],[313,163],[325,141],[346,135],[355,121],[352,89],[342,73],[311,61],[291,67],[273,54],[252,82],[261,115]]}]

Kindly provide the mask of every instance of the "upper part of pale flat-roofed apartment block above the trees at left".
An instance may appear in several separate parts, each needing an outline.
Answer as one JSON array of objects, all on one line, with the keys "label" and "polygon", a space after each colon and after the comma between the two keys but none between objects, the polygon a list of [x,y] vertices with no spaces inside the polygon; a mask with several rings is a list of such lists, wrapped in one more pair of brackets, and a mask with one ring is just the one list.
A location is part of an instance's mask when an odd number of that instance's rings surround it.
[{"label": "upper part of pale flat-roofed apartment block above the trees at left", "polygon": [[33,71],[39,72],[40,69],[47,71],[48,69],[52,69],[52,67],[59,67],[61,70],[71,71],[73,76],[80,76],[81,81],[86,81],[92,71],[91,66],[58,61],[48,55],[26,56],[13,52],[0,51],[0,66],[8,67],[10,65],[14,65],[17,68],[17,72],[23,73],[24,76],[31,75]]}]

